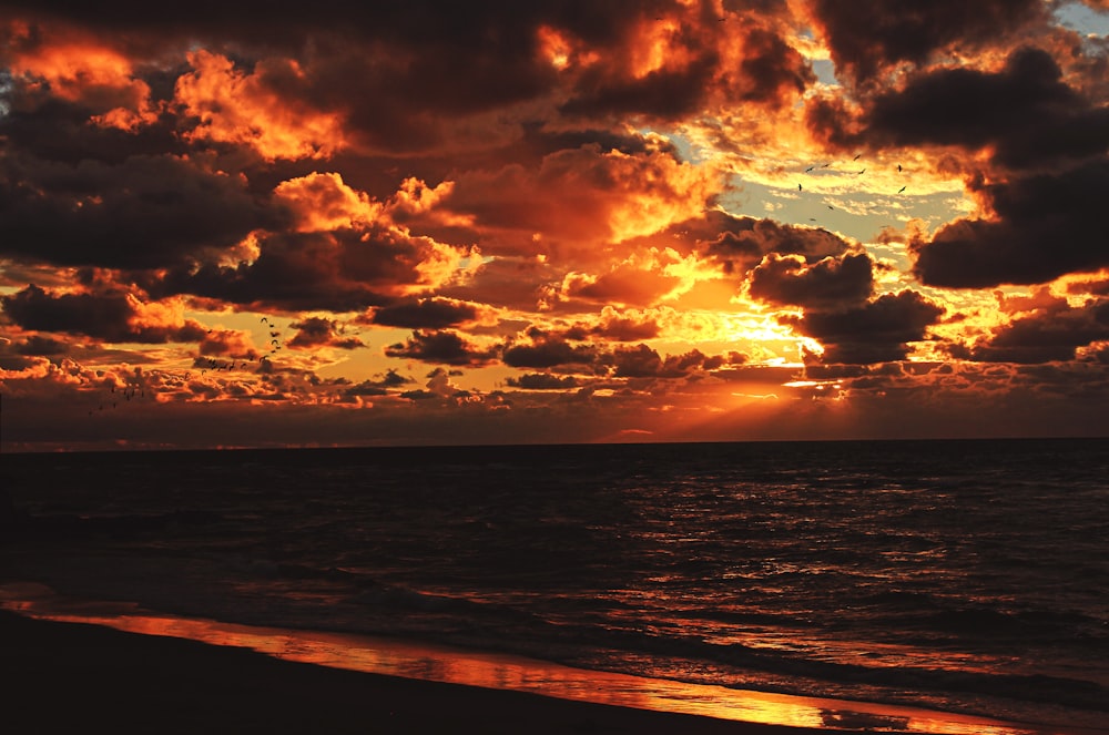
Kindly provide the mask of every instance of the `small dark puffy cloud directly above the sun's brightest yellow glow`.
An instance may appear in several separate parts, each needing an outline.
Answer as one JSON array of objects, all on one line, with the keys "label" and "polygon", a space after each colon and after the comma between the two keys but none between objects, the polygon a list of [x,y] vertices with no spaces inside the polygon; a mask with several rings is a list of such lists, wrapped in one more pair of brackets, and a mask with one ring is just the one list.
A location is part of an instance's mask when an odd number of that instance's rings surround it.
[{"label": "small dark puffy cloud directly above the sun's brightest yellow glow", "polygon": [[751,272],[751,296],[770,304],[834,308],[874,293],[873,262],[865,253],[806,265],[801,256],[767,255]]}]

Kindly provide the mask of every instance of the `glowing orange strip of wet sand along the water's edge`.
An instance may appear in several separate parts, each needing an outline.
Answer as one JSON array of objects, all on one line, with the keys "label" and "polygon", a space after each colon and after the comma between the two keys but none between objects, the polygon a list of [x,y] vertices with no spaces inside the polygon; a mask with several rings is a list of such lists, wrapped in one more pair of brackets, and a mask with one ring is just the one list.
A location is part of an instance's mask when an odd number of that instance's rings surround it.
[{"label": "glowing orange strip of wet sand along the water's edge", "polygon": [[0,608],[31,617],[81,622],[251,649],[278,659],[424,681],[775,725],[943,735],[1058,735],[990,719],[908,707],[795,697],[586,671],[518,656],[360,635],[235,625],[112,611],[50,595],[38,585],[0,585]]}]

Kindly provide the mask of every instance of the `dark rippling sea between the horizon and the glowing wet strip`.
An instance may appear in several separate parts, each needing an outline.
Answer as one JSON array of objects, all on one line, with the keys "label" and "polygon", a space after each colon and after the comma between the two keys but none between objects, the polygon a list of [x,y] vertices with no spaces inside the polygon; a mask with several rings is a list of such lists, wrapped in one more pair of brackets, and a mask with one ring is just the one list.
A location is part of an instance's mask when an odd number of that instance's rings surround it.
[{"label": "dark rippling sea between the horizon and the glowing wet strip", "polygon": [[7,455],[0,580],[724,687],[1109,722],[1109,440]]}]

